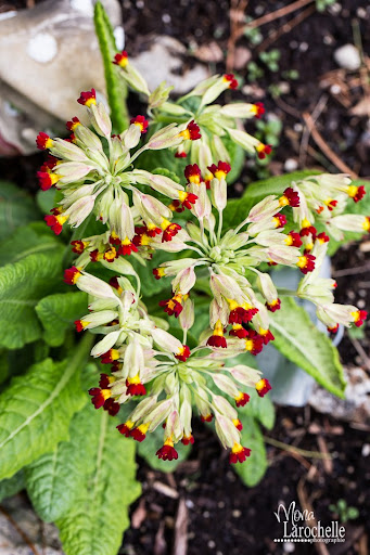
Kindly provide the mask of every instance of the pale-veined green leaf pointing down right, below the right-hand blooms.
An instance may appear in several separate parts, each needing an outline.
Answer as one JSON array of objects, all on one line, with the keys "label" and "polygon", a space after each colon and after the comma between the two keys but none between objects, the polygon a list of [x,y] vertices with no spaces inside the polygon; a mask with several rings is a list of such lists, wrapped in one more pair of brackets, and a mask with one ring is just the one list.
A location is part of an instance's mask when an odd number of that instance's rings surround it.
[{"label": "pale-veined green leaf pointing down right, below the right-hand blooms", "polygon": [[344,397],[346,383],[336,348],[294,299],[284,297],[281,309],[271,318],[270,326],[277,349],[328,391]]}]

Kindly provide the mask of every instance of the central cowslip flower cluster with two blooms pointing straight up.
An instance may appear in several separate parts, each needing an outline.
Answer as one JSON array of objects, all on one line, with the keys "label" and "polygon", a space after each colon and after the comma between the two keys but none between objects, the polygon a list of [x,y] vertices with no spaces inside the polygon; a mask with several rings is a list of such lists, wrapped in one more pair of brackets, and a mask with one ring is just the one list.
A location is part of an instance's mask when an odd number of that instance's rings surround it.
[{"label": "central cowslip flower cluster with two blooms pointing straight up", "polygon": [[[154,276],[157,280],[174,276],[171,297],[160,305],[176,318],[183,309],[193,310],[189,295],[196,288],[196,280],[206,278],[212,295],[212,335],[206,338],[206,344],[214,348],[243,345],[246,351],[257,354],[273,339],[269,331],[269,313],[280,308],[270,275],[258,267],[264,262],[279,263],[297,267],[307,274],[315,268],[315,256],[302,253],[298,233],[284,233],[286,217],[281,211],[286,205],[299,205],[299,197],[291,188],[280,198],[267,196],[235,229],[222,232],[222,214],[227,206],[226,175],[230,169],[222,162],[209,167],[214,178],[208,194],[199,166],[187,166],[186,190],[197,196],[190,207],[196,223],[189,221],[171,244],[154,238],[152,245],[170,253],[188,249],[194,257],[164,262],[154,270]],[[225,336],[227,328],[228,338]]]}]

